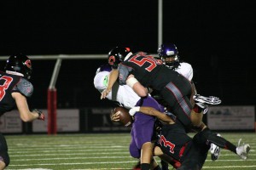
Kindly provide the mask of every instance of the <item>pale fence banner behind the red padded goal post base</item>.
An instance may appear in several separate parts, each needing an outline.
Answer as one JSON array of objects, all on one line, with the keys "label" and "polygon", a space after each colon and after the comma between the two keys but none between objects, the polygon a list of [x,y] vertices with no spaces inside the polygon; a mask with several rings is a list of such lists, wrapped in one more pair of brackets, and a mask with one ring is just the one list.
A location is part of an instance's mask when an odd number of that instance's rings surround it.
[{"label": "pale fence banner behind the red padded goal post base", "polygon": [[[41,110],[45,114],[45,121],[32,122],[32,132],[48,132],[48,111]],[[57,132],[79,132],[79,110],[57,110]]]}]

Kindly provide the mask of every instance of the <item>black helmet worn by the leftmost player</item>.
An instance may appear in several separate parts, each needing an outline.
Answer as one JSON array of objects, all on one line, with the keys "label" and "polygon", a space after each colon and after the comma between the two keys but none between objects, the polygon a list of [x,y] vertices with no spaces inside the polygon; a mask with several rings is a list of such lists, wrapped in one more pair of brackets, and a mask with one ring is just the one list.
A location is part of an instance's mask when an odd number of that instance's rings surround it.
[{"label": "black helmet worn by the leftmost player", "polygon": [[5,71],[15,71],[30,79],[32,74],[31,60],[25,54],[14,54],[9,57],[4,67]]}]

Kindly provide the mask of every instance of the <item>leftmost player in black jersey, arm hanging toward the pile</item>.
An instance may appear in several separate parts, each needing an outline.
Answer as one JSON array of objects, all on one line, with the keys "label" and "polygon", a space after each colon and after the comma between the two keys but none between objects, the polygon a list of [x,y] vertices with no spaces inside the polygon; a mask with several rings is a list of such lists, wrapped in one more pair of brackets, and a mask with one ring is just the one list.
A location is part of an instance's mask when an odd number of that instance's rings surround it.
[{"label": "leftmost player in black jersey, arm hanging toward the pile", "polygon": [[[26,101],[33,93],[32,83],[28,81],[32,74],[31,60],[24,54],[11,55],[4,70],[5,72],[0,71],[0,116],[12,111],[16,106],[23,122],[36,119],[44,121],[44,113],[38,110],[30,111]],[[8,165],[8,146],[0,133],[0,169]]]}]

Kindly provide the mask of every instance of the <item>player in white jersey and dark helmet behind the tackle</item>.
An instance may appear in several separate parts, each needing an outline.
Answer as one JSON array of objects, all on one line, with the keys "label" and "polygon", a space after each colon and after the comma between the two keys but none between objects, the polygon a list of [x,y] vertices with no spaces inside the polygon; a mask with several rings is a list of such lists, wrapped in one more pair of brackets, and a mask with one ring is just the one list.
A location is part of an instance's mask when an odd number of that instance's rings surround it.
[{"label": "player in white jersey and dark helmet behind the tackle", "polygon": [[[191,85],[194,90],[194,95],[197,94],[197,90],[195,88],[195,83],[193,82],[193,68],[187,62],[180,60],[180,56],[178,54],[177,46],[174,43],[163,43],[158,48],[158,55],[160,59],[164,62],[164,64],[172,69],[173,71],[177,71],[182,74],[184,77],[188,78],[191,82]],[[191,98],[192,105],[196,105],[194,99]],[[205,108],[207,111],[207,105],[199,105]],[[219,135],[219,134],[218,134]],[[216,144],[211,144],[211,159],[212,161],[216,161],[220,155],[220,148]]]}]

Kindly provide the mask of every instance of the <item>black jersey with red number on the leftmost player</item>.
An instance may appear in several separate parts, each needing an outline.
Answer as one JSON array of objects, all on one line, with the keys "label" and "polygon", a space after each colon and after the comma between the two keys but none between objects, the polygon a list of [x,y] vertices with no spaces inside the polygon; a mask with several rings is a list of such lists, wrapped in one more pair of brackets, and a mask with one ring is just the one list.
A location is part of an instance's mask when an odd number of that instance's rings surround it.
[{"label": "black jersey with red number on the leftmost player", "polygon": [[26,97],[33,93],[33,86],[25,78],[0,72],[0,116],[15,107],[15,99],[12,97],[13,92],[18,92]]}]

